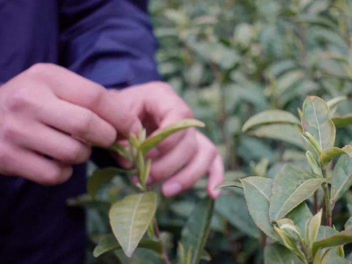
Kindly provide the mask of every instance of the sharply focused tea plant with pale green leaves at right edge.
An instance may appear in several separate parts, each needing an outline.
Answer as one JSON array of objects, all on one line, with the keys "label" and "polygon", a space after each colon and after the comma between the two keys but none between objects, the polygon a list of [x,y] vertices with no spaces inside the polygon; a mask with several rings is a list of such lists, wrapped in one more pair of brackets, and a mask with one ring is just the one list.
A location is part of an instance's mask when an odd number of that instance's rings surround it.
[{"label": "sharply focused tea plant with pale green leaves at right edge", "polygon": [[[335,147],[336,126],[352,123],[351,115],[332,114],[344,99],[326,103],[309,96],[302,110],[298,109],[301,120],[290,112],[267,110],[251,117],[242,128],[265,128],[291,143],[302,139],[310,166],[306,170],[287,165],[273,179],[251,176],[241,183],[221,185],[243,188],[253,221],[268,237],[266,264],[351,263],[344,259],[343,246],[352,243],[352,218],[341,232],[333,226],[336,202],[352,186],[352,146]],[[283,134],[283,126],[293,133]]]}]

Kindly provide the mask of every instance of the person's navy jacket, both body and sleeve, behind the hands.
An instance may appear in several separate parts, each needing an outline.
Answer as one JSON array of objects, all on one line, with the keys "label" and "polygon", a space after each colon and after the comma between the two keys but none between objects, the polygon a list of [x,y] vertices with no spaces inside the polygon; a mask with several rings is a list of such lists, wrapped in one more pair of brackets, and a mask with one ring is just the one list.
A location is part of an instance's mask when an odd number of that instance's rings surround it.
[{"label": "person's navy jacket, both body and sleeve, behind the hands", "polygon": [[[155,48],[147,0],[0,0],[0,83],[50,62],[123,88],[159,79]],[[84,214],[65,201],[85,177],[85,165],[54,187],[0,176],[0,264],[84,263]]]}]

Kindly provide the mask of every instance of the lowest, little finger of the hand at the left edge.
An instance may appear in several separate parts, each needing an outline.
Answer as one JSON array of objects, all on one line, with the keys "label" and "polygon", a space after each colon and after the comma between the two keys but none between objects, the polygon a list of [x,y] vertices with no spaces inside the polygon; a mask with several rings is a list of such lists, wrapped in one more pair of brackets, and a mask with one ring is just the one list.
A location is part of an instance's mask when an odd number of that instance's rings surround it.
[{"label": "lowest, little finger of the hand at the left edge", "polygon": [[[2,146],[3,147],[3,146]],[[20,175],[42,185],[55,185],[67,181],[72,175],[72,167],[28,150],[3,147],[0,163],[5,175]]]}]

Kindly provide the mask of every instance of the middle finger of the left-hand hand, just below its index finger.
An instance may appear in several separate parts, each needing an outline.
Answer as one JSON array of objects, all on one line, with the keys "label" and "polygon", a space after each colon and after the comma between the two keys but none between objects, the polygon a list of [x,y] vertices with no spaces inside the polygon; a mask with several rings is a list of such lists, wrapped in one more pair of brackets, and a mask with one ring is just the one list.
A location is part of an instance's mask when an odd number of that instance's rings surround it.
[{"label": "middle finger of the left-hand hand, just below its index finger", "polygon": [[91,110],[63,100],[44,103],[40,122],[97,146],[108,147],[116,139],[116,129]]}]

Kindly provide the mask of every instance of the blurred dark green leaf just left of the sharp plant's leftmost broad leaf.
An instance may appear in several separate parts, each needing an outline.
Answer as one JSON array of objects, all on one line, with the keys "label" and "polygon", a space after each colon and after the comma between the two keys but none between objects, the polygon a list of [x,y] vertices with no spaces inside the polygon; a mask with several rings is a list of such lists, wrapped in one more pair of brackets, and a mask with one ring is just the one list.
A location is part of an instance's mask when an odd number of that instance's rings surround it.
[{"label": "blurred dark green leaf just left of the sharp plant's leftmost broad leaf", "polygon": [[215,201],[215,211],[247,236],[255,239],[260,237],[261,232],[253,222],[243,196],[221,194]]}]

